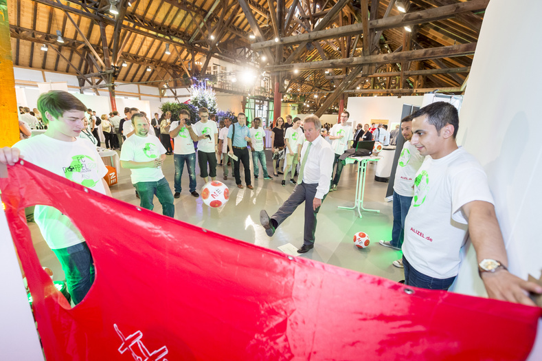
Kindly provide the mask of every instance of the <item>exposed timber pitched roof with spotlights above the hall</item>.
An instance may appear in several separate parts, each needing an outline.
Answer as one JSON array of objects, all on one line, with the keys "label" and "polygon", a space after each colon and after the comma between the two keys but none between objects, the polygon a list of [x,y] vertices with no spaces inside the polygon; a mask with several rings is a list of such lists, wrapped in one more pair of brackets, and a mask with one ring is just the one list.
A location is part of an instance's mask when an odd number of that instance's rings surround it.
[{"label": "exposed timber pitched roof with spotlights above the hall", "polygon": [[461,92],[488,2],[9,0],[8,14],[14,65],[80,87],[186,86],[216,58],[323,112],[344,94]]}]

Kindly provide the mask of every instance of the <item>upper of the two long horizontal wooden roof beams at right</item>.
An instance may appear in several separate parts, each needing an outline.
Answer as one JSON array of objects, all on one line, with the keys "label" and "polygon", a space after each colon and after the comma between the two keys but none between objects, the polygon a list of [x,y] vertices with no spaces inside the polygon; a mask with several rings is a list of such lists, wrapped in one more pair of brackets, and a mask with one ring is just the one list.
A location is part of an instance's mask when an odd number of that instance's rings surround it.
[{"label": "upper of the two long horizontal wooden roof beams at right", "polygon": [[[371,30],[387,30],[392,28],[402,28],[406,25],[416,25],[421,23],[430,23],[431,21],[437,21],[441,19],[447,19],[449,17],[455,17],[458,13],[473,12],[478,10],[484,10],[489,3],[489,0],[470,0],[463,3],[456,3],[453,5],[442,6],[440,8],[432,8],[429,10],[421,10],[418,12],[409,12],[407,14],[397,15],[395,17],[387,17],[385,19],[376,19],[369,22],[369,28]],[[280,43],[283,45],[301,43],[306,44],[309,41],[333,39],[338,36],[351,36],[363,33],[363,24],[357,23],[353,25],[342,26],[341,28],[333,28],[328,30],[316,30],[309,32],[308,34],[300,34],[295,36],[289,36],[287,38],[280,39]],[[300,47],[301,47],[300,44]],[[254,50],[261,50],[266,47],[275,46],[273,41],[262,41],[259,43],[253,43],[251,45]],[[303,45],[304,46],[304,45]],[[298,47],[298,49],[300,48]]]}]

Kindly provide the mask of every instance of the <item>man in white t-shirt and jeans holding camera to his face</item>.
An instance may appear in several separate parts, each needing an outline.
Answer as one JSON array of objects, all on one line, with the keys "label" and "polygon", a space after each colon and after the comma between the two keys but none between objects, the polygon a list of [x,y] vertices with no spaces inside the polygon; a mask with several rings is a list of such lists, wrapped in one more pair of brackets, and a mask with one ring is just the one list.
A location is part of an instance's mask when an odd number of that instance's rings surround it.
[{"label": "man in white t-shirt and jeans holding camera to his face", "polygon": [[198,140],[198,136],[190,125],[190,111],[181,109],[179,111],[179,120],[172,122],[170,129],[170,137],[175,142],[173,152],[175,166],[174,197],[181,197],[181,177],[183,176],[184,163],[186,163],[188,177],[190,177],[190,194],[199,197],[199,193],[196,192],[196,150],[194,149],[194,142]]}]

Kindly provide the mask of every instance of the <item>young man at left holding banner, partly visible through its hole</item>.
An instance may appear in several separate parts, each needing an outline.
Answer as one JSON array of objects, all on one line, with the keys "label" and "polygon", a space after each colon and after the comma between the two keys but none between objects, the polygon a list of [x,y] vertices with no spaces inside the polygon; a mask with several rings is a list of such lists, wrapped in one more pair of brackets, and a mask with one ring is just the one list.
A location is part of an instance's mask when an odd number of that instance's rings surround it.
[{"label": "young man at left holding banner, partly visible through its hole", "polygon": [[[0,162],[13,165],[23,157],[41,168],[111,197],[103,177],[107,169],[94,144],[79,138],[87,107],[67,91],[53,90],[38,98],[38,109],[47,124],[41,135],[0,149]],[[58,257],[68,291],[77,305],[94,281],[94,261],[78,228],[60,210],[36,206],[34,220],[43,239]]]}]

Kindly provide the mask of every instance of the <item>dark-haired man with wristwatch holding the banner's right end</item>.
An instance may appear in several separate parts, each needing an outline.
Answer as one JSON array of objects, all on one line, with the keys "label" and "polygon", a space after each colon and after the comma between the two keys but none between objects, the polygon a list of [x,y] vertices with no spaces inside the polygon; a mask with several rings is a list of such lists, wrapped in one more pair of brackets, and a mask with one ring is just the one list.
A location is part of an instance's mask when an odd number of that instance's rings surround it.
[{"label": "dark-haired man with wristwatch holding the banner's right end", "polygon": [[405,284],[448,289],[458,275],[467,231],[488,296],[534,305],[534,283],[508,272],[508,258],[484,168],[455,141],[458,111],[434,102],[412,115],[411,144],[427,156],[405,220]]}]

